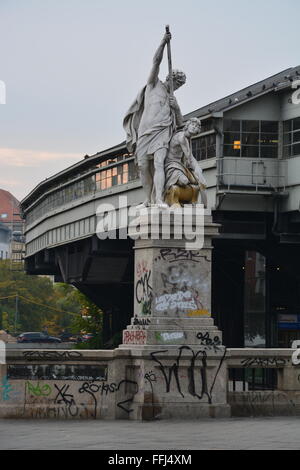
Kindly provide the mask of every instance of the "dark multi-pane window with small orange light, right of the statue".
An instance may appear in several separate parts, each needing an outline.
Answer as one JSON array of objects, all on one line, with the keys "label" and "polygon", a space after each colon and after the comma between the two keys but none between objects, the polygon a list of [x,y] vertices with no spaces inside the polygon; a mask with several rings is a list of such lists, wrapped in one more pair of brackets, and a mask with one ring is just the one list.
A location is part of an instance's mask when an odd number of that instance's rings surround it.
[{"label": "dark multi-pane window with small orange light, right of the statue", "polygon": [[278,122],[224,119],[224,157],[278,158]]}]

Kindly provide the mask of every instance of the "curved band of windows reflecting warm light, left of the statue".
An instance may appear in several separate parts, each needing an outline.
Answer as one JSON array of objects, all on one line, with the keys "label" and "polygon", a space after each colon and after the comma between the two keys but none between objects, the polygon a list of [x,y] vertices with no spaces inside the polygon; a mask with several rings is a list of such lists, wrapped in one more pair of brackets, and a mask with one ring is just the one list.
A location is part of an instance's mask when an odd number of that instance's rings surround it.
[{"label": "curved band of windows reflecting warm light, left of the statue", "polygon": [[[60,187],[43,197],[43,199],[28,212],[27,224],[31,224],[43,214],[64,204],[80,199],[96,191],[103,191],[113,186],[129,183],[138,178],[138,170],[131,155],[124,154],[113,159],[93,165],[90,174],[80,177],[73,176]],[[85,172],[86,173],[86,172]],[[76,181],[74,181],[76,180]]]}]

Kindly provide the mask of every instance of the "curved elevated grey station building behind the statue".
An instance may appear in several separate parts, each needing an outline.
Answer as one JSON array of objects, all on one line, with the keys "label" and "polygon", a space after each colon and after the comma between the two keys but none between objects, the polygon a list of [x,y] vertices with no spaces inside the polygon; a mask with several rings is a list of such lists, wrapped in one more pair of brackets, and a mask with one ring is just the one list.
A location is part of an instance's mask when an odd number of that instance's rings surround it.
[{"label": "curved elevated grey station building behind the statue", "polygon": [[[185,116],[208,182],[214,239],[212,313],[227,347],[300,339],[300,66]],[[41,182],[21,203],[26,271],[54,275],[105,312],[105,336],[133,313],[133,241],[101,240],[97,207],[143,201],[125,142]]]}]

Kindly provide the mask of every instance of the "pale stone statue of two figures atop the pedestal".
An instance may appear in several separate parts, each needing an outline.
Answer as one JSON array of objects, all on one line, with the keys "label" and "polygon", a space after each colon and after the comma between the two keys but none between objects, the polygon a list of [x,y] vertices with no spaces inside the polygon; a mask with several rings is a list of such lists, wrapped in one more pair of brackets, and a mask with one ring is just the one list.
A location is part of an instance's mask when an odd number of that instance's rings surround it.
[{"label": "pale stone statue of two figures atop the pedestal", "polygon": [[[199,194],[206,203],[206,181],[191,149],[191,137],[200,133],[201,122],[183,118],[173,91],[184,85],[186,76],[170,66],[171,34],[167,31],[157,49],[147,85],[124,118],[127,148],[135,154],[146,200],[143,206],[161,208],[196,204]],[[158,74],[165,46],[169,53],[169,75]]]}]

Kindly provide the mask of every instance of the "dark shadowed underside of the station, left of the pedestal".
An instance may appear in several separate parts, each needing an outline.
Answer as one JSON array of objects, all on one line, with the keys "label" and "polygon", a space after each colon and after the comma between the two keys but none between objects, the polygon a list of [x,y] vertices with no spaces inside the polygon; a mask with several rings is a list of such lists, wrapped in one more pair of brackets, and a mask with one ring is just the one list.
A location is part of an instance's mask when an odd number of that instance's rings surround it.
[{"label": "dark shadowed underside of the station, left of the pedestal", "polygon": [[104,312],[103,342],[109,344],[133,314],[134,253],[132,240],[99,240],[96,236],[26,259],[28,274],[54,275],[72,284]]}]

